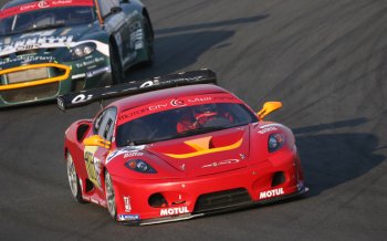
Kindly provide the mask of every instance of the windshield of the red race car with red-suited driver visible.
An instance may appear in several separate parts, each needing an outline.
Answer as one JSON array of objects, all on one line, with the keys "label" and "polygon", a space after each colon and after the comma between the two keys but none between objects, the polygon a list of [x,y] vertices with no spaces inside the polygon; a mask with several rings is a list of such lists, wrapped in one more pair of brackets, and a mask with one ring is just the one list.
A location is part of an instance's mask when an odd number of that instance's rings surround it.
[{"label": "windshield of the red race car with red-suited driver visible", "polygon": [[258,122],[243,104],[217,103],[185,106],[132,119],[117,127],[116,144],[144,145]]}]

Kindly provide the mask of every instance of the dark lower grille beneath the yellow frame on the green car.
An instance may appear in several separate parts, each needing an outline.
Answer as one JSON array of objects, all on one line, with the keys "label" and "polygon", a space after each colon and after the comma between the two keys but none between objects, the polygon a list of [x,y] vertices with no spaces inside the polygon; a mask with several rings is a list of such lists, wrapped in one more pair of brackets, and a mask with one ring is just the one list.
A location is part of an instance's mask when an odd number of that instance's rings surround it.
[{"label": "dark lower grille beneath the yellow frame on the green car", "polygon": [[59,92],[59,82],[31,87],[1,91],[1,97],[8,103],[38,101],[54,97]]}]

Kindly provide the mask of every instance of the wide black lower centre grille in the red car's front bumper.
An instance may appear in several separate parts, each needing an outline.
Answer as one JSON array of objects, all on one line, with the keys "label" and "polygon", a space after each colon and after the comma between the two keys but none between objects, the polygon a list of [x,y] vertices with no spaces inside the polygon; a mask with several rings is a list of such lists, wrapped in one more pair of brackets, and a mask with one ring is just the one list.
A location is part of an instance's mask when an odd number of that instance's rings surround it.
[{"label": "wide black lower centre grille in the red car's front bumper", "polygon": [[249,192],[244,188],[238,188],[201,195],[195,205],[194,212],[216,211],[251,203]]}]

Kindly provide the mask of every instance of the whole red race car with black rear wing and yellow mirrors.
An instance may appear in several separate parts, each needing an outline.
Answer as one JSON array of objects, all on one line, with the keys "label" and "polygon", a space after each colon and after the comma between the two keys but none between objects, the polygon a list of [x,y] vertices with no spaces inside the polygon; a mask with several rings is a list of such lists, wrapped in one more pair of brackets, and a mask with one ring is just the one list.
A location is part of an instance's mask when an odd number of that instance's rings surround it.
[{"label": "whole red race car with black rear wing and yellow mirrors", "polygon": [[60,96],[64,111],[132,95],[65,132],[74,198],[151,224],[307,191],[292,132],[263,120],[282,104],[254,113],[215,82],[199,70]]}]

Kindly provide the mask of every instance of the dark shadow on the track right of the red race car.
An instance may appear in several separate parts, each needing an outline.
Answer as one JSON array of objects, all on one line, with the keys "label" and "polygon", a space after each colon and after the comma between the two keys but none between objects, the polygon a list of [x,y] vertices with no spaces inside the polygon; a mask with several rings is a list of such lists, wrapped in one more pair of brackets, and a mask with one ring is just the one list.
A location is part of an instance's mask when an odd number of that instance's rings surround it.
[{"label": "dark shadow on the track right of the red race car", "polygon": [[318,134],[321,130],[353,128],[366,118],[293,129],[306,186],[307,197],[317,196],[326,189],[358,178],[386,159],[376,154],[378,137],[366,133]]}]

